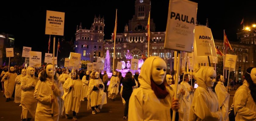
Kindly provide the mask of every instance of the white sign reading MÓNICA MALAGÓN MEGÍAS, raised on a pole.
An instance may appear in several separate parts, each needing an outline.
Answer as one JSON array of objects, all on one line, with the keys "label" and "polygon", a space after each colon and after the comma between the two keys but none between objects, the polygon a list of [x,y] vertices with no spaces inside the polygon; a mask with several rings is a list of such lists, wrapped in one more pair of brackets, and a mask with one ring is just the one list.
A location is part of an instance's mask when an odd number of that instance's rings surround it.
[{"label": "white sign reading M\u00d3NICA MALAG\u00d3N MEG\u00cdAS, raised on a pole", "polygon": [[45,34],[64,35],[64,12],[46,11]]}]

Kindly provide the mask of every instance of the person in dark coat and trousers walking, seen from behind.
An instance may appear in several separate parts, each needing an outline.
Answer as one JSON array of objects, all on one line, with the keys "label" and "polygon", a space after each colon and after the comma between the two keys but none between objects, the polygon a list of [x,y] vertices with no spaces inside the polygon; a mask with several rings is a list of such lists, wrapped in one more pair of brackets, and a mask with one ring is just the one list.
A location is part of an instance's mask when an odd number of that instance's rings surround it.
[{"label": "person in dark coat and trousers walking, seen from behind", "polygon": [[125,109],[123,119],[127,119],[129,99],[133,92],[133,86],[136,86],[135,80],[132,77],[132,73],[129,71],[126,73],[125,78],[122,81],[123,84],[123,92],[122,97],[125,100]]}]

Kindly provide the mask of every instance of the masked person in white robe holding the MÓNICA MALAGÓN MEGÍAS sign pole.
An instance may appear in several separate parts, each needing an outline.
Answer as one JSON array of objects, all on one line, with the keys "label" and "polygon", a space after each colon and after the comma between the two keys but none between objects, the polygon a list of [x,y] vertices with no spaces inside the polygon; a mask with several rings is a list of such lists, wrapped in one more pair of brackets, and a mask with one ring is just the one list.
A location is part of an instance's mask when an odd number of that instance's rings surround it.
[{"label": "masked person in white robe holding the M\u00d3NICA MALAG\u00d3N MEG\u00cdAS sign pole", "polygon": [[[64,93],[62,84],[56,77],[56,70],[52,64],[47,64],[44,69],[34,92],[34,98],[37,99],[35,121],[59,121],[60,109],[62,109],[59,100]],[[53,83],[52,76],[54,76]]]}]

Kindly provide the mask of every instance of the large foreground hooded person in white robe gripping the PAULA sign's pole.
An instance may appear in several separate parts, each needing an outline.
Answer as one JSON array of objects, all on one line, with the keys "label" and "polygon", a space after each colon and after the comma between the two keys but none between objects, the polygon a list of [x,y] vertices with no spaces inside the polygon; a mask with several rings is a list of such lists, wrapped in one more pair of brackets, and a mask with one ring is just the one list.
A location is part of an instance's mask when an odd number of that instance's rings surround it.
[{"label": "large foreground hooded person in white robe gripping the PAULA sign's pole", "polygon": [[148,57],[138,77],[140,87],[129,100],[128,121],[171,121],[170,110],[178,110],[178,99],[172,100],[166,90],[165,61],[160,57]]}]

